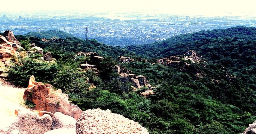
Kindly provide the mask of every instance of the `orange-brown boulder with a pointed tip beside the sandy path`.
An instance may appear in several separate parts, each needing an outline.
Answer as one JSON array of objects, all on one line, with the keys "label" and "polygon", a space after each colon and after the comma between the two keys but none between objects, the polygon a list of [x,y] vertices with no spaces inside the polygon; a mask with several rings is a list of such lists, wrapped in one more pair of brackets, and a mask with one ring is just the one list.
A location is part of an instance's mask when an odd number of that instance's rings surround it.
[{"label": "orange-brown boulder with a pointed tip beside the sandy path", "polygon": [[23,99],[36,104],[33,108],[35,110],[51,113],[61,112],[76,120],[83,112],[78,106],[69,103],[67,94],[63,94],[60,89],[54,90],[50,84],[36,82],[33,75],[30,77]]}]

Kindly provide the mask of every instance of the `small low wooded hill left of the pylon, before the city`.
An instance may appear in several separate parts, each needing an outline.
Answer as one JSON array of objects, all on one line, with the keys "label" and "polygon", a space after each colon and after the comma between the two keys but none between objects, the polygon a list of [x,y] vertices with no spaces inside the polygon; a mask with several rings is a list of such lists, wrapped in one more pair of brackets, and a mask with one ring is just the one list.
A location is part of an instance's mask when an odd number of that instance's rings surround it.
[{"label": "small low wooded hill left of the pylon, before the city", "polygon": [[68,37],[72,37],[72,35],[64,32],[64,31],[58,31],[58,30],[33,32],[33,33],[27,33],[25,35],[26,36],[36,36],[38,38],[46,38],[46,39],[50,39],[52,37],[58,37],[58,38],[66,39]]}]

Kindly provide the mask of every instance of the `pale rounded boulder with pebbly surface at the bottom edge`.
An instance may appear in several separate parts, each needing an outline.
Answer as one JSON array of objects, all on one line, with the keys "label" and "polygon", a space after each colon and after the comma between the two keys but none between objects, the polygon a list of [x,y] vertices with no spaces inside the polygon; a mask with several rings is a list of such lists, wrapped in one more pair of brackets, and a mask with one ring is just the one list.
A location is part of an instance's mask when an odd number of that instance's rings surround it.
[{"label": "pale rounded boulder with pebbly surface at the bottom edge", "polygon": [[137,133],[149,134],[138,122],[129,120],[123,115],[111,113],[110,110],[85,110],[76,123],[77,134],[113,134]]}]

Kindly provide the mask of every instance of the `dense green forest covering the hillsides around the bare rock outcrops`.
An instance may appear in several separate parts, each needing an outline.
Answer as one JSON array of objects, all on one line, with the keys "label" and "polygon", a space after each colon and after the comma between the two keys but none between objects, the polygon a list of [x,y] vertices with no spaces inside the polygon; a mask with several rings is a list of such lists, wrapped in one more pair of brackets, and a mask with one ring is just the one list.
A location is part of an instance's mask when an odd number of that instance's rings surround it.
[{"label": "dense green forest covering the hillsides around the bare rock outcrops", "polygon": [[[8,71],[9,79],[25,87],[29,76],[34,75],[37,81],[61,88],[82,110],[110,109],[154,134],[241,133],[256,120],[256,28],[205,30],[127,48],[76,37],[49,41],[16,37],[22,46],[35,43],[44,53],[51,52],[56,61],[41,61],[43,55],[33,53],[16,57]],[[188,50],[195,50],[207,62],[184,59]],[[91,60],[77,57],[80,51],[104,57],[97,63],[99,74],[79,68]],[[118,56],[134,61],[123,63]],[[179,66],[156,63],[167,56],[176,56]],[[145,87],[134,90],[131,83],[123,83],[115,65],[145,75],[154,94],[144,97],[140,92],[147,90]],[[184,66],[185,71],[180,69]]]}]

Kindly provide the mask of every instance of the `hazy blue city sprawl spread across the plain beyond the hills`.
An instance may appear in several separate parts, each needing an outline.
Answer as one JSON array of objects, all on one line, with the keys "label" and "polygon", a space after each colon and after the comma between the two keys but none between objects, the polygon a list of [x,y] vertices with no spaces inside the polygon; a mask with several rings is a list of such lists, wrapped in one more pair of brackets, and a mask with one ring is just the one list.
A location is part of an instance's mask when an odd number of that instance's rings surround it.
[{"label": "hazy blue city sprawl spread across the plain beyond the hills", "polygon": [[256,27],[256,18],[239,16],[204,17],[197,15],[142,14],[142,13],[82,13],[82,12],[0,12],[0,31],[14,34],[62,30],[85,39],[113,46],[153,43],[200,30]]}]

